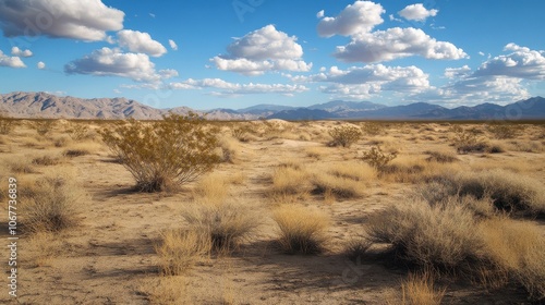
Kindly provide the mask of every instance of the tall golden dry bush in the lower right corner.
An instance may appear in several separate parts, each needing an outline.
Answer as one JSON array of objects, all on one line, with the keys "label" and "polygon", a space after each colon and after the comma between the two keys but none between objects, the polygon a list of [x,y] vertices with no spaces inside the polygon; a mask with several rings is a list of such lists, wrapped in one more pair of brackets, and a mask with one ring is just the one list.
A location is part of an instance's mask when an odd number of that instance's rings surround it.
[{"label": "tall golden dry bush in the lower right corner", "polygon": [[[545,237],[529,221],[497,217],[483,221],[480,232],[496,274],[507,273],[535,300],[545,300]],[[505,278],[505,276],[502,276]],[[505,280],[502,282],[506,282]]]}]

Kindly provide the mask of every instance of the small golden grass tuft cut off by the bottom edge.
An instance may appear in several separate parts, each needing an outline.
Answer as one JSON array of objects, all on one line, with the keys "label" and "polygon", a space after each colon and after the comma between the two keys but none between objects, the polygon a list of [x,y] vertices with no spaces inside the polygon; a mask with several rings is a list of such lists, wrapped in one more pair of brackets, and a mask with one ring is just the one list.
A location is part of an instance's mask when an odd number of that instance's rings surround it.
[{"label": "small golden grass tuft cut off by the bottom edge", "polygon": [[436,289],[435,279],[431,271],[409,273],[401,283],[402,305],[439,305],[445,296],[446,289]]}]

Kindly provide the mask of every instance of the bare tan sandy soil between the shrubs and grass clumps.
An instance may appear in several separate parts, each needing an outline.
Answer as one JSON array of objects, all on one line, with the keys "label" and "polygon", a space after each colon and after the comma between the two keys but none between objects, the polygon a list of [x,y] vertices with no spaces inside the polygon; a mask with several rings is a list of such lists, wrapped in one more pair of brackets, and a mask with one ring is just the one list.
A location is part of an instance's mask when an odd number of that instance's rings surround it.
[{"label": "bare tan sandy soil between the shrubs and grass clumps", "polygon": [[[185,276],[165,278],[159,273],[154,245],[162,230],[187,225],[181,211],[196,204],[193,191],[198,181],[177,193],[133,192],[132,175],[116,162],[99,136],[73,141],[63,134],[63,124],[66,122],[40,136],[28,122],[22,122],[11,134],[0,136],[2,188],[8,187],[7,178],[14,176],[19,191],[24,192],[36,176],[62,168],[74,172],[77,184],[88,194],[82,199],[81,222],[74,229],[43,236],[41,241],[20,230],[16,298],[8,294],[10,252],[1,247],[2,304],[396,304],[391,295],[399,292],[408,270],[380,257],[353,263],[344,247],[364,235],[371,213],[407,200],[423,183],[417,175],[365,181],[361,196],[353,198],[324,198],[311,193],[293,199],[294,204],[327,212],[330,227],[325,252],[289,255],[275,244],[278,228],[271,209],[279,203],[268,195],[270,176],[279,164],[291,162],[313,170],[339,162],[363,162],[358,157],[378,143],[386,150],[399,151],[393,163],[422,163],[427,158],[425,151],[450,151],[459,161],[435,170],[502,168],[545,182],[545,132],[538,125],[525,125],[516,138],[498,141],[505,152],[457,155],[450,146],[448,123],[382,123],[382,135],[364,135],[350,148],[326,145],[330,141],[327,131],[343,123],[237,123],[253,124],[255,132],[245,142],[230,138],[233,161],[220,163],[213,174],[228,181],[237,176],[229,185],[228,200],[257,211],[261,224],[230,255],[211,255]],[[98,127],[93,125],[90,133]],[[485,130],[483,124],[463,127]],[[232,123],[223,123],[220,136],[231,137],[232,129]],[[491,137],[486,132],[481,136]],[[520,148],[522,145],[528,149]],[[63,157],[66,149],[84,149],[86,154]],[[14,166],[44,155],[59,157],[60,163],[29,164],[28,169]],[[0,237],[8,244],[5,210],[4,198]],[[24,215],[20,219],[23,222]],[[450,277],[438,279],[436,285],[446,288],[444,304],[530,304],[524,290],[517,285],[486,290]]]}]

